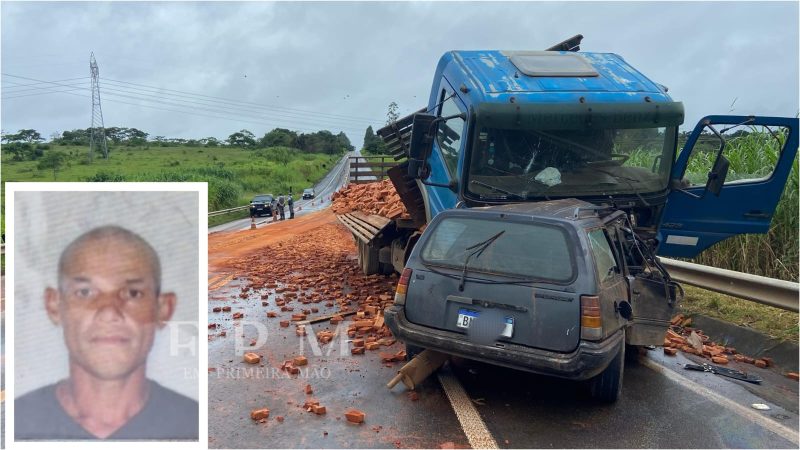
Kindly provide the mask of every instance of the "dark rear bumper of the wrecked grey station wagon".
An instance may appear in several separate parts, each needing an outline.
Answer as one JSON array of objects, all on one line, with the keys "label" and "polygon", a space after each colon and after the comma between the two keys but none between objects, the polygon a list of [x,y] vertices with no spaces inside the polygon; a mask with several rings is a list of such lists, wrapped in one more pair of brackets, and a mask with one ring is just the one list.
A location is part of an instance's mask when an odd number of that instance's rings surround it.
[{"label": "dark rear bumper of the wrecked grey station wagon", "polygon": [[498,366],[571,380],[586,380],[603,371],[616,356],[623,339],[619,330],[600,342],[580,341],[571,353],[551,352],[501,343],[503,348],[475,344],[466,335],[411,323],[401,306],[384,311],[386,325],[397,339],[411,345]]}]

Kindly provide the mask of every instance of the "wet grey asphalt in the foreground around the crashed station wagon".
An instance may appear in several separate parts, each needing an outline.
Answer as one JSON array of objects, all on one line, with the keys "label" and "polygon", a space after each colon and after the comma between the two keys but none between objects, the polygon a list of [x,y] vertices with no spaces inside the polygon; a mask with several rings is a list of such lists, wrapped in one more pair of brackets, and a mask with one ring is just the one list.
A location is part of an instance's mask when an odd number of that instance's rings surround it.
[{"label": "wet grey asphalt in the foreground around the crashed station wagon", "polygon": [[[293,327],[280,328],[277,319],[261,321],[268,339],[246,350],[263,354],[262,365],[247,365],[235,354],[235,321],[212,308],[232,304],[233,312],[263,317],[274,307],[261,302],[273,305],[275,294],[250,290],[242,297],[247,274],[235,275],[209,291],[209,320],[218,323],[209,330],[211,448],[798,447],[797,382],[734,362],[730,366],[757,373],[764,383],[685,371],[688,359],[665,356],[661,349],[626,362],[622,397],[613,405],[592,402],[579,383],[463,359],[451,360],[428,378],[414,400],[402,385],[385,386],[400,363],[387,367],[378,352],[353,356],[338,344],[317,353],[307,338],[296,336]],[[329,312],[320,306],[319,315]],[[310,326],[308,334],[326,327],[333,328],[324,322]],[[239,332],[244,343],[258,334],[252,327]],[[395,343],[381,350],[401,348]],[[301,353],[309,360],[306,372],[289,376],[277,369]],[[306,384],[313,395],[303,392]],[[328,413],[303,410],[308,398],[319,400]],[[770,409],[756,410],[756,403]],[[263,407],[270,408],[270,418],[251,420],[250,411]],[[350,407],[367,414],[364,424],[344,420],[342,412]]]}]

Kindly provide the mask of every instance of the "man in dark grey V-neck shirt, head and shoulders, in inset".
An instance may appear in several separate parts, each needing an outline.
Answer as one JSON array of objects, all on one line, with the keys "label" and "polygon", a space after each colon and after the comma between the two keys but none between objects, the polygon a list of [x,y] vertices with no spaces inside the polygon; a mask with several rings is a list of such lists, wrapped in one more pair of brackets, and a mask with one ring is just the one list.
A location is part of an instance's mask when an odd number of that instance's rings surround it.
[{"label": "man in dark grey V-neck shirt, head and shoulders, in inset", "polygon": [[161,289],[153,247],[100,226],[66,246],[57,272],[44,306],[63,331],[69,374],[15,400],[16,439],[197,440],[198,403],[147,376],[178,301]]}]

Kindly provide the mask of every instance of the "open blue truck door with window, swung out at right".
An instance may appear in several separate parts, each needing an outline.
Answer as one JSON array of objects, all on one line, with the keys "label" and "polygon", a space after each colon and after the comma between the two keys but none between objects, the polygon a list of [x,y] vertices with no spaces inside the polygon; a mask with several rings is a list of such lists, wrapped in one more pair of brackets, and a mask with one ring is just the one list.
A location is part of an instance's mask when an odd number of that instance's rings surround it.
[{"label": "open blue truck door with window, swung out at right", "polygon": [[766,233],[797,145],[798,119],[703,118],[672,170],[658,255],[693,258],[731,236]]}]

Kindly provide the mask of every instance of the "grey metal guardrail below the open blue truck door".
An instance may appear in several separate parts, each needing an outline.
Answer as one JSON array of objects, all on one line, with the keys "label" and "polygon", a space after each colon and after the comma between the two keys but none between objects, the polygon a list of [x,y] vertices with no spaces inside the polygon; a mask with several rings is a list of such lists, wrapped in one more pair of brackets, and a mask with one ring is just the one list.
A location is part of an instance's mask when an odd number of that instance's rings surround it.
[{"label": "grey metal guardrail below the open blue truck door", "polygon": [[774,306],[787,311],[800,310],[800,284],[749,273],[718,269],[674,259],[659,258],[669,275],[679,283],[690,284],[721,294]]}]

